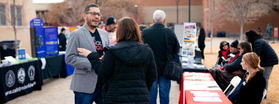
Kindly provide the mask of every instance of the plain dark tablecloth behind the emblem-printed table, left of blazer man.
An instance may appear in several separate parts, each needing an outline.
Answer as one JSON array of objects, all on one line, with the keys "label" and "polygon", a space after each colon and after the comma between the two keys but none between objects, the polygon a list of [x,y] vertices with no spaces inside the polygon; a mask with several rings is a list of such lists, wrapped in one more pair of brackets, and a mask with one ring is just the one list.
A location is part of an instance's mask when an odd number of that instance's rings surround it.
[{"label": "plain dark tablecloth behind the emblem-printed table, left of blazer man", "polygon": [[45,62],[45,69],[42,69],[41,71],[42,80],[59,74],[61,77],[66,77],[66,67],[63,55],[49,56],[45,58]]}]

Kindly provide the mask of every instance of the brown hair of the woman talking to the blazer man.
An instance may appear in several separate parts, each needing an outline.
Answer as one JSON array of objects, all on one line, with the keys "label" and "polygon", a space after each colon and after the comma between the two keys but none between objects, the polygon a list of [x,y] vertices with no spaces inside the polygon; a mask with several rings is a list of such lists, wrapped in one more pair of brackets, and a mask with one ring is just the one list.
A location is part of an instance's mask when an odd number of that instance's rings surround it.
[{"label": "brown hair of the woman talking to the blazer man", "polygon": [[142,35],[140,34],[140,28],[134,19],[130,17],[123,17],[117,21],[116,42],[121,41],[135,41],[142,42]]}]

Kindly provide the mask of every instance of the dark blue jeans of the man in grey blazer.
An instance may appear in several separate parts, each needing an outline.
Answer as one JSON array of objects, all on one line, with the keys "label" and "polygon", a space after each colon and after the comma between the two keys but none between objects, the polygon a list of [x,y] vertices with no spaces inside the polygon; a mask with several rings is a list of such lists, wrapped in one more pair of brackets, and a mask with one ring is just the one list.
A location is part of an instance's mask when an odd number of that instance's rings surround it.
[{"label": "dark blue jeans of the man in grey blazer", "polygon": [[96,104],[103,104],[102,88],[96,88],[92,94],[74,92],[75,104],[91,104],[95,101]]}]

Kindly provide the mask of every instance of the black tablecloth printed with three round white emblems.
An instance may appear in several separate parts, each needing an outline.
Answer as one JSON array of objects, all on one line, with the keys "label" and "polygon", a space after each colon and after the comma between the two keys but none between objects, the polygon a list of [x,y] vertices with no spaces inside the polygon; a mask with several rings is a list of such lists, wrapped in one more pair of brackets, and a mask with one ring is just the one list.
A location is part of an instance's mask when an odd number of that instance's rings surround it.
[{"label": "black tablecloth printed with three round white emblems", "polygon": [[0,103],[41,90],[40,60],[0,67]]}]

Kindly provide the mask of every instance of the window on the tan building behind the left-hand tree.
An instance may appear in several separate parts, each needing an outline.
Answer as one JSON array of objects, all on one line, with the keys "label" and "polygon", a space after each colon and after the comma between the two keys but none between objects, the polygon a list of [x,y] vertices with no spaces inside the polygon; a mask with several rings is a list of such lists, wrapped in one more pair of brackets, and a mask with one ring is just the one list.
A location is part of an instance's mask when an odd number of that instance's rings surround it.
[{"label": "window on the tan building behind the left-hand tree", "polygon": [[[14,12],[15,11],[15,15]],[[12,26],[14,23],[13,17],[15,17],[15,26],[22,26],[22,7],[20,6],[10,6],[10,15],[12,20]]]}]

